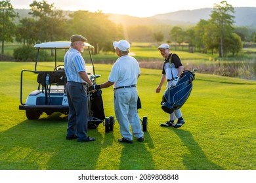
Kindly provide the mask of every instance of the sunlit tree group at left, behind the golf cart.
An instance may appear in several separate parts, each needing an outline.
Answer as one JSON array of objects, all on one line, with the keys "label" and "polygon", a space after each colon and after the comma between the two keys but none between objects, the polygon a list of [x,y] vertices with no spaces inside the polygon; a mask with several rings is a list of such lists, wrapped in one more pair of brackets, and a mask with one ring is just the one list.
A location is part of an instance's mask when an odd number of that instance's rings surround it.
[{"label": "sunlit tree group at left, behind the golf cart", "polygon": [[112,41],[121,39],[123,29],[116,25],[101,11],[89,12],[78,10],[68,14],[68,18],[62,10],[48,4],[47,1],[33,1],[30,4],[29,14],[32,18],[22,18],[18,24],[14,18],[19,15],[14,11],[9,0],[0,2],[0,22],[2,42],[2,54],[4,42],[21,42],[24,45],[32,45],[47,41],[69,41],[70,35],[81,34],[95,46],[94,52],[112,49]]}]

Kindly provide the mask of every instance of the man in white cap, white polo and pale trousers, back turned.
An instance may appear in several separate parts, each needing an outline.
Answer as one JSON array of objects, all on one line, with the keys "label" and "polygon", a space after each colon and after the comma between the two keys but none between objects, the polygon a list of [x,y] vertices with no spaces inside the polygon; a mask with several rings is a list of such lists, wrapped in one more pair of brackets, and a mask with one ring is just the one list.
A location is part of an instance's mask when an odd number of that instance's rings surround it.
[{"label": "man in white cap, white polo and pale trousers, back turned", "polygon": [[[119,142],[133,143],[133,136],[137,141],[144,141],[144,133],[137,112],[137,80],[140,76],[140,67],[137,59],[129,56],[130,44],[125,40],[113,42],[116,54],[119,57],[114,63],[108,81],[91,86],[91,90],[108,88],[114,85],[114,108],[119,123],[122,138]],[[130,131],[130,125],[133,133]]]}]

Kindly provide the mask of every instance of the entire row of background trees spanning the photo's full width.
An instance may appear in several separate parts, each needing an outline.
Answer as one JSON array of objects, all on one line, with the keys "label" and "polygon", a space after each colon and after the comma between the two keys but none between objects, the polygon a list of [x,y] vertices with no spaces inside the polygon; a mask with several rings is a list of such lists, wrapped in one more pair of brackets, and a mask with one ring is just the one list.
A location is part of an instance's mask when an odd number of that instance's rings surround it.
[{"label": "entire row of background trees spanning the photo's full width", "polygon": [[[0,2],[1,22],[1,53],[4,53],[4,43],[14,39],[23,45],[30,46],[38,42],[69,41],[70,35],[81,34],[95,46],[94,54],[100,51],[112,51],[112,41],[122,39],[127,31],[129,37],[138,34],[141,37],[152,37],[156,42],[164,41],[162,31],[147,31],[144,27],[128,27],[116,25],[101,11],[89,12],[77,10],[66,16],[62,10],[48,4],[47,1],[33,1],[29,14],[32,18],[24,17],[14,23],[19,15],[14,11],[9,0]],[[174,26],[169,31],[169,40],[165,42],[179,45],[186,42],[192,50],[198,52],[218,52],[223,58],[227,54],[237,54],[242,50],[242,34],[234,31],[234,8],[226,1],[215,4],[209,20],[200,20],[194,27],[186,30]],[[143,31],[142,31],[143,30]],[[140,31],[140,33],[139,33]],[[256,35],[253,38],[256,41]]]}]

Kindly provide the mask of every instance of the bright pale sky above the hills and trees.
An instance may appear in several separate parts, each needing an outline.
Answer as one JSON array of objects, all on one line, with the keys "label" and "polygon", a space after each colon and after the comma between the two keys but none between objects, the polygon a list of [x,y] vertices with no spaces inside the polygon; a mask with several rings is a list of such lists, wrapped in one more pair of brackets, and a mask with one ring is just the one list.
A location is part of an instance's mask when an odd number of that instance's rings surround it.
[{"label": "bright pale sky above the hills and trees", "polygon": [[[38,2],[39,0],[37,0]],[[178,10],[213,8],[223,0],[46,0],[48,4],[62,10],[88,10],[103,13],[127,14],[149,17]],[[226,0],[232,7],[256,7],[256,0]],[[33,0],[11,0],[14,8],[30,9]]]}]

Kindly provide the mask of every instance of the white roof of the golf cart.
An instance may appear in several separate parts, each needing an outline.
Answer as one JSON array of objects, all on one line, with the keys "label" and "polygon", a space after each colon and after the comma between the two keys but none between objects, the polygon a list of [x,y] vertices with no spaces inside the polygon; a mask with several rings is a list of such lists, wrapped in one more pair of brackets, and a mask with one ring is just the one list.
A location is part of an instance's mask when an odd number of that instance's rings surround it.
[{"label": "white roof of the golf cart", "polygon": [[[53,42],[43,42],[39,44],[35,44],[33,46],[35,49],[64,49],[70,48],[70,41],[53,41]],[[91,44],[85,42],[85,47],[94,48]]]}]

